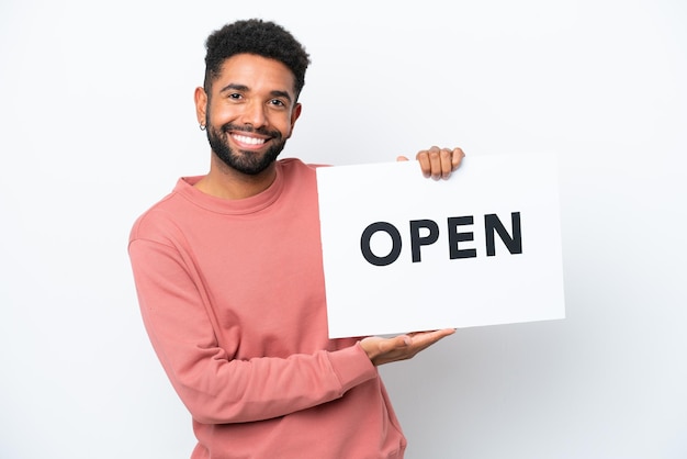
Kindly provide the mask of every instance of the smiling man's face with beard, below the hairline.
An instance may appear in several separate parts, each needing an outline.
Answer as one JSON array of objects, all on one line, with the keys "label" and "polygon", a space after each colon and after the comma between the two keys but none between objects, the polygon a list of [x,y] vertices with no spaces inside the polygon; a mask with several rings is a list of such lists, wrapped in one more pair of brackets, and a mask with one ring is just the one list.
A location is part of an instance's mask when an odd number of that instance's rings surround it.
[{"label": "smiling man's face with beard, below the hairline", "polygon": [[204,105],[212,150],[232,169],[251,176],[274,163],[301,113],[291,70],[251,54],[224,61]]}]

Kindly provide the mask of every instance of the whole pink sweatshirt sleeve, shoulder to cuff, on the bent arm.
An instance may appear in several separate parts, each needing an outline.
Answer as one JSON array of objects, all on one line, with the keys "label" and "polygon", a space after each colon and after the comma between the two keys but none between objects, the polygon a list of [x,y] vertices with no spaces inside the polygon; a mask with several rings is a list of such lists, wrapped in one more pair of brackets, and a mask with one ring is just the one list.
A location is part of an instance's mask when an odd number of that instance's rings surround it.
[{"label": "whole pink sweatshirt sleeve, shoulder to cuff, on the bent arm", "polygon": [[286,415],[339,399],[378,376],[359,344],[286,358],[236,359],[217,343],[209,299],[179,250],[132,236],[128,253],[153,347],[182,402],[201,423]]}]

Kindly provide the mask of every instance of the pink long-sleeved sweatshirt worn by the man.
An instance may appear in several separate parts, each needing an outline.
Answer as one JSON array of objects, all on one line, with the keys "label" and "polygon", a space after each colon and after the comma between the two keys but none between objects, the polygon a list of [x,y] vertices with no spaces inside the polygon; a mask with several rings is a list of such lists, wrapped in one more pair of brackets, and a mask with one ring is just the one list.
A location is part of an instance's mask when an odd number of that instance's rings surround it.
[{"label": "pink long-sleeved sweatshirt worn by the man", "polygon": [[223,200],[200,177],[135,223],[128,251],[155,351],[200,458],[402,458],[406,440],[356,339],[328,339],[316,176],[277,164]]}]

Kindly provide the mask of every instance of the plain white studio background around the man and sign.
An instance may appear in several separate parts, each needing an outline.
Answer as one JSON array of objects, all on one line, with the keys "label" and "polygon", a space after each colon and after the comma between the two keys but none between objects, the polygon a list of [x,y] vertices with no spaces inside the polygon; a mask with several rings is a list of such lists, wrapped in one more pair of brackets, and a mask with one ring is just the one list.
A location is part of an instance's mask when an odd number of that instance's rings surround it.
[{"label": "plain white studio background around the man and sign", "polygon": [[189,457],[126,242],[177,177],[206,171],[204,38],[249,16],[313,58],[285,156],[559,156],[567,318],[459,331],[383,367],[407,457],[685,458],[677,0],[4,0],[0,457]]}]

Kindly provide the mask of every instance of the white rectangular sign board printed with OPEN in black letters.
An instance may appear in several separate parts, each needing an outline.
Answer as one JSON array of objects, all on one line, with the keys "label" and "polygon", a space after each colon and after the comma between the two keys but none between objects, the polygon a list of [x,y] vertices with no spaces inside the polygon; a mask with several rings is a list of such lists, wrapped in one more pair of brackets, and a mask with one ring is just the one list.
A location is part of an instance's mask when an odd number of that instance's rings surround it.
[{"label": "white rectangular sign board printed with OPEN in black letters", "polygon": [[553,155],[317,169],[329,337],[564,318]]}]

